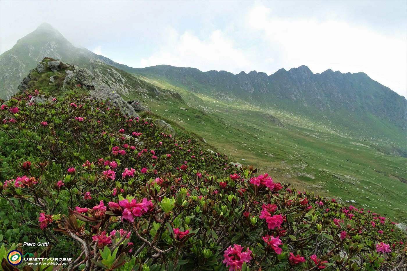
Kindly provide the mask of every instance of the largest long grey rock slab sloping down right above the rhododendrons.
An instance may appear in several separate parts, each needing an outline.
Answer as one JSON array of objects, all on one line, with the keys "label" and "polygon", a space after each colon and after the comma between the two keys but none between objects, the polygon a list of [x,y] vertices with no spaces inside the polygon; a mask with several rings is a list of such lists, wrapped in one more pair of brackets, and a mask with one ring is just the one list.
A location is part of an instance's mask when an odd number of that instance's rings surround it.
[{"label": "largest long grey rock slab sloping down right above the rhododendrons", "polygon": [[[93,75],[93,74],[92,74]],[[67,76],[68,77],[68,76]],[[131,107],[119,94],[117,94],[112,88],[105,84],[95,86],[89,94],[90,98],[96,100],[109,100],[113,107],[120,109],[123,114],[140,118],[134,108]]]}]

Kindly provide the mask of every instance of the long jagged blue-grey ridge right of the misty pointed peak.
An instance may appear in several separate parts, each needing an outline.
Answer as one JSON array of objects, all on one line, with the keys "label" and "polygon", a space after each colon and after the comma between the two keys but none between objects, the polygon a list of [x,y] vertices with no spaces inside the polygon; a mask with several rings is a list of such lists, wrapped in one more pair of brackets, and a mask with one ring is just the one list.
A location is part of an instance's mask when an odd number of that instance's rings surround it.
[{"label": "long jagged blue-grey ridge right of the misty pointed peak", "polygon": [[259,101],[276,103],[288,100],[300,107],[311,105],[320,111],[363,111],[403,130],[407,127],[407,100],[363,72],[343,74],[326,70],[313,74],[308,67],[300,66],[289,71],[280,69],[267,76],[256,71],[248,74],[214,70],[201,72],[196,68],[167,65],[133,69],[132,72],[166,79],[173,85],[194,92],[249,94]]}]

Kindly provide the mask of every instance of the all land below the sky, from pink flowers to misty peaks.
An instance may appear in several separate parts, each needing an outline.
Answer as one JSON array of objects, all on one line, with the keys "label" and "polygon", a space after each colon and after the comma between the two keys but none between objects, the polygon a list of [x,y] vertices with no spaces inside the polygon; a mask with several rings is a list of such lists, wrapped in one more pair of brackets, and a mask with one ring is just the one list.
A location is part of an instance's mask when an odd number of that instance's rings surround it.
[{"label": "all land below the sky, from pink flowers to misty peaks", "polygon": [[47,23],[0,67],[0,270],[407,270],[407,100],[363,72],[131,68]]}]

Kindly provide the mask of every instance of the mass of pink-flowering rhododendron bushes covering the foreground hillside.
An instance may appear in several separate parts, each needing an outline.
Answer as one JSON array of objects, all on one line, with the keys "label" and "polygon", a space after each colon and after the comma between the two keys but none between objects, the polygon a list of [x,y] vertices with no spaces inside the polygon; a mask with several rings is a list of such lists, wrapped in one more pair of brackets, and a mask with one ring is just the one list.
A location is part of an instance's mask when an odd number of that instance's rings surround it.
[{"label": "mass of pink-flowering rhododendron bushes covering the foreground hillside", "polygon": [[54,270],[405,270],[406,233],[385,216],[230,166],[109,102],[34,94],[0,110],[5,270],[11,248],[72,258]]}]

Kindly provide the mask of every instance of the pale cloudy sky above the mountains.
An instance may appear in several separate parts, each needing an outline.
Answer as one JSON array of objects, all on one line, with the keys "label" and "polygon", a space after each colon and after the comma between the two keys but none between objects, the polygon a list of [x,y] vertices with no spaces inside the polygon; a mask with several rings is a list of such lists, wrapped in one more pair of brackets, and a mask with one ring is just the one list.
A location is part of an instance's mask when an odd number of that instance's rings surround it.
[{"label": "pale cloudy sky above the mountains", "polygon": [[0,53],[48,22],[125,65],[365,72],[407,96],[407,1],[0,0]]}]

